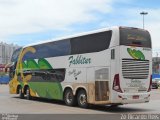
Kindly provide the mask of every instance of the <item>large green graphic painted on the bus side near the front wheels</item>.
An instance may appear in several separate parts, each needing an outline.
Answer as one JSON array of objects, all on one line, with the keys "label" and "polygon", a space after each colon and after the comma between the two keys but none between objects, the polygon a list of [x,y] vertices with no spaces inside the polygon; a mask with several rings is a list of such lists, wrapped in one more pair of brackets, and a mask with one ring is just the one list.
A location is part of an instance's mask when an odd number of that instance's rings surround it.
[{"label": "large green graphic painted on the bus side near the front wheels", "polygon": [[[51,76],[53,73],[50,73],[49,70],[53,70],[52,66],[48,63],[48,61],[44,58],[38,60],[38,63],[34,59],[26,60],[22,62],[23,70],[35,71],[35,75],[31,74],[31,79],[28,81],[28,85],[30,89],[39,97],[49,98],[49,99],[62,99],[63,92],[62,86],[59,81],[52,80]],[[41,71],[43,70],[43,71]],[[48,71],[46,73],[43,73]],[[34,80],[37,78],[36,80]],[[42,80],[41,80],[42,79]],[[34,80],[34,81],[33,81]],[[24,86],[24,82],[20,81],[21,86]]]}]

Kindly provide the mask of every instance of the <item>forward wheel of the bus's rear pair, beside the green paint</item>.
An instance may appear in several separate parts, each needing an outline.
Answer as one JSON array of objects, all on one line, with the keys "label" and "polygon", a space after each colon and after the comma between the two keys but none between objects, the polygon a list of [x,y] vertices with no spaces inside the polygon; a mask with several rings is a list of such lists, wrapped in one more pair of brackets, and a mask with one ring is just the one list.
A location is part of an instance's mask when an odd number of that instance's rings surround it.
[{"label": "forward wheel of the bus's rear pair, beside the green paint", "polygon": [[64,102],[68,106],[74,106],[76,103],[75,96],[71,89],[67,89],[64,93]]}]

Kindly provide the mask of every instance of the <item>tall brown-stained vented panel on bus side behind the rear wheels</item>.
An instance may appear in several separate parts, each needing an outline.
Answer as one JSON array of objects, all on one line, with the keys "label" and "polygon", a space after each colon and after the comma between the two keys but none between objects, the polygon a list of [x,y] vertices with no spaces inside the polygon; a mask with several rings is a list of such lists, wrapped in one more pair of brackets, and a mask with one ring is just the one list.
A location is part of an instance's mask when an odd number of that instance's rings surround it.
[{"label": "tall brown-stained vented panel on bus side behind the rear wheels", "polygon": [[109,100],[109,68],[95,68],[95,101]]}]

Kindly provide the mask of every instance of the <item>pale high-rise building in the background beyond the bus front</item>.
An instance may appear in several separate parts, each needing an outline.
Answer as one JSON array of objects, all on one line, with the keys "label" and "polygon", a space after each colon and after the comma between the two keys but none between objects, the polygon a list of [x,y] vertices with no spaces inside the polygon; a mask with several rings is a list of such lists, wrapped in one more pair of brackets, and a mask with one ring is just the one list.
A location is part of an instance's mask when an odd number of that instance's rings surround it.
[{"label": "pale high-rise building in the background beyond the bus front", "polygon": [[0,64],[7,64],[11,62],[12,53],[20,46],[14,44],[0,43]]}]

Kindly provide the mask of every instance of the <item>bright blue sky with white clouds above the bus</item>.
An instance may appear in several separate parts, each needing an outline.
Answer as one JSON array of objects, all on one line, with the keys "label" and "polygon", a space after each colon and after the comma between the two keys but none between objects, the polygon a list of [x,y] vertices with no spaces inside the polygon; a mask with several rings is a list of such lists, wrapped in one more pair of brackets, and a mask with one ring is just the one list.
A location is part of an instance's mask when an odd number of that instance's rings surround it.
[{"label": "bright blue sky with white clouds above the bus", "polygon": [[160,56],[160,0],[0,0],[0,41],[19,46],[112,26],[143,27]]}]

